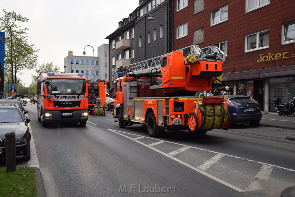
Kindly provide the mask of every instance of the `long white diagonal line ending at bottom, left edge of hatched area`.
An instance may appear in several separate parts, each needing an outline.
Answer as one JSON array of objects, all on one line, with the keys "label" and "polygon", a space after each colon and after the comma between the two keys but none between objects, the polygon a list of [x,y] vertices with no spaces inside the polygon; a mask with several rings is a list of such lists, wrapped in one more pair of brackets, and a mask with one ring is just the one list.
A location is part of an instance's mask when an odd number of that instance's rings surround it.
[{"label": "long white diagonal line ending at bottom, left edge of hatched area", "polygon": [[[148,147],[148,148],[150,148],[150,149],[152,149],[152,150],[154,150],[154,151],[156,151],[156,152],[158,152],[158,153],[160,153],[160,154],[163,154],[164,156],[169,157],[169,158],[173,159],[174,161],[179,162],[179,163],[181,163],[181,164],[183,164],[183,165],[185,165],[185,166],[191,168],[192,170],[195,170],[195,171],[197,171],[197,172],[199,172],[199,173],[201,173],[201,174],[203,174],[203,175],[205,175],[205,176],[207,176],[207,177],[209,177],[209,178],[211,178],[211,179],[213,179],[213,180],[215,180],[215,181],[217,181],[217,182],[219,182],[219,183],[221,183],[221,184],[223,184],[223,185],[226,185],[226,186],[228,186],[228,187],[230,187],[230,188],[232,188],[232,189],[234,189],[234,190],[236,190],[236,191],[239,191],[239,192],[245,192],[245,190],[242,190],[242,189],[236,187],[235,185],[232,185],[232,184],[230,184],[230,183],[227,183],[227,182],[225,182],[225,181],[223,181],[223,180],[221,180],[221,179],[219,179],[219,178],[216,178],[216,177],[214,177],[214,176],[208,174],[207,172],[204,172],[204,171],[202,171],[202,170],[199,170],[199,169],[197,169],[197,168],[195,168],[195,167],[193,167],[193,166],[191,166],[191,165],[189,165],[189,164],[187,164],[187,163],[185,163],[185,162],[183,162],[183,161],[181,161],[181,160],[179,160],[179,159],[177,159],[177,158],[175,158],[175,157],[172,157],[172,156],[169,155],[169,154],[166,154],[166,153],[164,153],[164,152],[162,152],[162,151],[160,151],[160,150],[158,150],[158,149],[155,149],[155,148],[152,147],[152,146],[149,146],[148,144],[145,144],[145,143],[143,143],[143,142],[141,142],[141,141],[138,141],[138,140],[136,140],[136,139],[133,139],[133,138],[131,138],[131,137],[129,137],[129,136],[126,136],[126,135],[122,134],[122,133],[125,133],[125,132],[115,131],[115,130],[112,130],[112,129],[107,129],[107,130],[112,131],[112,132],[114,132],[114,133],[117,133],[117,134],[119,134],[119,135],[121,135],[121,136],[124,136],[124,137],[126,137],[126,138],[128,138],[128,139],[131,139],[131,140],[133,140],[133,141],[135,141],[135,142],[137,142],[137,143],[139,143],[139,144],[141,144],[141,145],[143,145],[143,146],[146,146],[146,147]],[[130,133],[128,133],[128,134],[130,134]],[[162,140],[162,141],[164,142],[164,140]]]}]

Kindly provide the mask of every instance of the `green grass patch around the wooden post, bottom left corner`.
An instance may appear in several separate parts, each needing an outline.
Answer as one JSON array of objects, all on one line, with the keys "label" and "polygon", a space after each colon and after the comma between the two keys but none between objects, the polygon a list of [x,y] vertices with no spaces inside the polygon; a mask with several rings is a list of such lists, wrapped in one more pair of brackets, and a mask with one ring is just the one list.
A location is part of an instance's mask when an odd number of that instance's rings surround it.
[{"label": "green grass patch around the wooden post, bottom left corner", "polygon": [[35,169],[17,167],[6,173],[6,168],[0,168],[0,196],[38,196]]}]

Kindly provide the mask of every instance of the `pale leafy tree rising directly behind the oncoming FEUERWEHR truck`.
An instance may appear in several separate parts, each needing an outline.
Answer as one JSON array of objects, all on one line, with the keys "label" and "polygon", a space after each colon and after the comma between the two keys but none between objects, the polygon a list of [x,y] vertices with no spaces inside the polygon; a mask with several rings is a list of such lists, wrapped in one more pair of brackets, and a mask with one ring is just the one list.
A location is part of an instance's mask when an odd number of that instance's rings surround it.
[{"label": "pale leafy tree rising directly behind the oncoming FEUERWEHR truck", "polygon": [[37,92],[37,78],[40,75],[40,73],[44,73],[45,71],[50,72],[60,72],[60,68],[58,65],[53,65],[52,62],[50,63],[43,63],[38,65],[38,67],[35,69],[36,74],[32,74],[32,82],[29,85],[29,93],[35,95]]}]

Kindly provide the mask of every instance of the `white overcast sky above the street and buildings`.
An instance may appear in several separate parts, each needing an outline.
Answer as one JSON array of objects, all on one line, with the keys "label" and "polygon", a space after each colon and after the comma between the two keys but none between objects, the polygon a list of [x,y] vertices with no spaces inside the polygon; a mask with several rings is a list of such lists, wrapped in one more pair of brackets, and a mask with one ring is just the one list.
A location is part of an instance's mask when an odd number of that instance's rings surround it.
[{"label": "white overcast sky above the street and buildings", "polygon": [[[94,48],[108,43],[104,39],[118,28],[118,22],[129,16],[138,6],[138,0],[0,0],[0,17],[15,12],[27,17],[28,43],[34,44],[39,64],[53,62],[63,71],[63,59],[68,51],[82,55],[86,45]],[[0,31],[3,31],[0,29]],[[87,54],[93,54],[86,47]],[[17,75],[25,87],[31,83],[31,73]]]}]

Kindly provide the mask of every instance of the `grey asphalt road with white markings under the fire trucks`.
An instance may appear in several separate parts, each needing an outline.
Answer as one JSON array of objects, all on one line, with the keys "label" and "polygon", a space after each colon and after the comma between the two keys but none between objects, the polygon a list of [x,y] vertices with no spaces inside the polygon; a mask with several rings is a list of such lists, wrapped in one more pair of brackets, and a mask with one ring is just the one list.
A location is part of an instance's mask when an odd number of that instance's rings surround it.
[{"label": "grey asphalt road with white markings under the fire trucks", "polygon": [[40,167],[47,196],[280,196],[295,184],[295,141],[274,136],[292,130],[236,124],[150,138],[140,125],[120,129],[111,112],[42,128],[25,108],[37,158],[17,165]]}]

